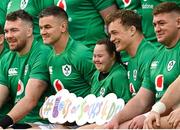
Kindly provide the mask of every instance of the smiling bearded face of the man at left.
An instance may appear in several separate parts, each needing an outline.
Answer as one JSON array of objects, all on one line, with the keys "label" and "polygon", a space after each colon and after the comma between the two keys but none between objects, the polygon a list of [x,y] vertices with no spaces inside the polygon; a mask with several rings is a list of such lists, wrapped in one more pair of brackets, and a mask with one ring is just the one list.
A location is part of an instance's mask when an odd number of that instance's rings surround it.
[{"label": "smiling bearded face of the man at left", "polygon": [[[21,52],[25,46],[28,37],[32,36],[32,28],[21,19],[15,21],[6,21],[5,23],[5,38],[12,51]],[[31,31],[30,31],[31,30]]]}]

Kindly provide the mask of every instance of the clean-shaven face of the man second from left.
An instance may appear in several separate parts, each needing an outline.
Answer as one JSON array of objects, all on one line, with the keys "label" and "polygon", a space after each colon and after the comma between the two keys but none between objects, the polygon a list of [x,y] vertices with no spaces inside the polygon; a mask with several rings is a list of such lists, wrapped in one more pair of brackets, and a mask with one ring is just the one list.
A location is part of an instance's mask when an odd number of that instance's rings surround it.
[{"label": "clean-shaven face of the man second from left", "polygon": [[40,33],[43,42],[46,44],[56,44],[64,32],[66,32],[66,25],[63,20],[54,16],[46,16],[39,19]]}]

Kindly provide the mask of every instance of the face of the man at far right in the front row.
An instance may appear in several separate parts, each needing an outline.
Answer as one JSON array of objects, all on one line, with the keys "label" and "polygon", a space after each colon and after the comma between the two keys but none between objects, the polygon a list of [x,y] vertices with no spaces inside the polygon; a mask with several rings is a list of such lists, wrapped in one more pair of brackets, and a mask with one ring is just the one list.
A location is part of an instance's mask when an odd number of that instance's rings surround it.
[{"label": "face of the man at far right in the front row", "polygon": [[180,17],[178,18],[178,14],[174,12],[160,13],[154,16],[153,24],[158,42],[167,47],[172,47],[177,42],[180,28],[178,19]]}]

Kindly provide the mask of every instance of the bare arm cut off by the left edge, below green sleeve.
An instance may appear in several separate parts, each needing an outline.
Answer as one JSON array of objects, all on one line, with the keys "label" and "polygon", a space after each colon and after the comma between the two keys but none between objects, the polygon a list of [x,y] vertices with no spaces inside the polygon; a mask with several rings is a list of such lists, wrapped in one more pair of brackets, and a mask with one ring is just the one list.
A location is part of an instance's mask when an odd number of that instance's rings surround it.
[{"label": "bare arm cut off by the left edge, below green sleeve", "polygon": [[5,103],[6,99],[8,99],[9,90],[8,87],[0,84],[0,108]]}]

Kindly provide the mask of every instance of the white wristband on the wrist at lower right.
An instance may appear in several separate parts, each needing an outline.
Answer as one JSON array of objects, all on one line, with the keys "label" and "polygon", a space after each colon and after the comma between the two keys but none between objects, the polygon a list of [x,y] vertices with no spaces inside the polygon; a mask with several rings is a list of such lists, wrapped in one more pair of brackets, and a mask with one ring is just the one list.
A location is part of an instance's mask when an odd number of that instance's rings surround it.
[{"label": "white wristband on the wrist at lower right", "polygon": [[166,111],[166,105],[163,102],[159,101],[153,105],[151,111],[155,111],[159,114],[162,114]]}]

